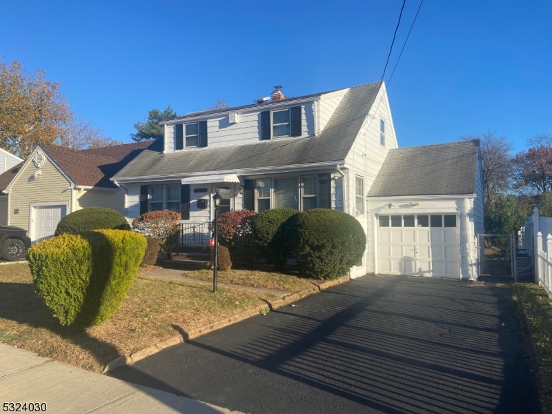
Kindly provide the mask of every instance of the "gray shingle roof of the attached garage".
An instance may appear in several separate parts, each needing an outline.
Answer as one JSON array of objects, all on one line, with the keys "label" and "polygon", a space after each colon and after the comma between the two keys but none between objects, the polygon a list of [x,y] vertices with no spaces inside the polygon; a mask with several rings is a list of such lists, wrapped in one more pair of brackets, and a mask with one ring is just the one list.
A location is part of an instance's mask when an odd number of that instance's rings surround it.
[{"label": "gray shingle roof of the attached garage", "polygon": [[390,150],[368,196],[475,193],[479,139]]}]

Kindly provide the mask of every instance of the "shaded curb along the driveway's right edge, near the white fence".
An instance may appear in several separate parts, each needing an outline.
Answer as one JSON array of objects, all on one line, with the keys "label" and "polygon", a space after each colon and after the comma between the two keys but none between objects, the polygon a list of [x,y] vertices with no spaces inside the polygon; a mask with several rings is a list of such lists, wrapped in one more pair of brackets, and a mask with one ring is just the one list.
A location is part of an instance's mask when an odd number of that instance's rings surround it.
[{"label": "shaded curb along the driveway's right edge, near the white fence", "polygon": [[546,380],[546,375],[544,375],[544,372],[540,366],[537,349],[535,348],[533,336],[531,335],[531,328],[529,328],[529,316],[527,316],[527,311],[525,310],[525,305],[523,304],[523,299],[517,285],[514,285],[514,291],[517,296],[517,311],[520,317],[522,331],[524,333],[523,339],[527,348],[527,353],[529,354],[529,362],[531,364],[531,368],[533,369],[535,380],[537,380],[540,412],[543,414],[552,413],[552,400],[548,393],[548,381]]}]

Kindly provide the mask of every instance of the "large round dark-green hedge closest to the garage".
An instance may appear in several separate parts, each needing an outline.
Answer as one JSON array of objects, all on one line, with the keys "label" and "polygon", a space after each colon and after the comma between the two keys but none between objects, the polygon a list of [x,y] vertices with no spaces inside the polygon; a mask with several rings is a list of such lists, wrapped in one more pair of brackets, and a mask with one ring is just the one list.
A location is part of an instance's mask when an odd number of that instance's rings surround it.
[{"label": "large round dark-green hedge closest to the garage", "polygon": [[287,222],[290,251],[301,273],[337,279],[355,266],[366,249],[366,234],[355,217],[337,210],[315,208]]}]

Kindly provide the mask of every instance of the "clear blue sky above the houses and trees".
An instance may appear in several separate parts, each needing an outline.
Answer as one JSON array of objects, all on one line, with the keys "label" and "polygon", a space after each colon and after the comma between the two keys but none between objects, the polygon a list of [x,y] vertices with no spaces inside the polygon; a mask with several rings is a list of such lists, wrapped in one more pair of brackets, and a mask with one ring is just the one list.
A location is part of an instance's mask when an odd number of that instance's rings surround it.
[{"label": "clear blue sky above the houses and trees", "polygon": [[[419,0],[407,0],[386,81]],[[59,81],[71,108],[129,141],[151,108],[181,115],[379,81],[402,6],[377,1],[17,1],[0,55]],[[400,146],[488,128],[515,150],[552,134],[552,1],[424,0],[388,87]]]}]

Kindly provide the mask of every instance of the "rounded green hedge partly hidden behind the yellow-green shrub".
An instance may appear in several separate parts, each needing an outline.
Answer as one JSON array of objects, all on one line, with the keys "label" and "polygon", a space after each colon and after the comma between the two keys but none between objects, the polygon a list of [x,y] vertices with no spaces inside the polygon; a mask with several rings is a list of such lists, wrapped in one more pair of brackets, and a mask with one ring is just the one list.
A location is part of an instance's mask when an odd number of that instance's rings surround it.
[{"label": "rounded green hedge partly hidden behind the yellow-green shrub", "polygon": [[112,208],[87,207],[63,217],[57,224],[55,235],[77,235],[99,228],[130,230],[130,225],[124,215]]}]

